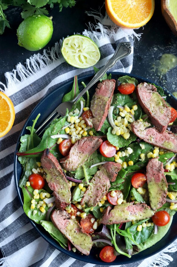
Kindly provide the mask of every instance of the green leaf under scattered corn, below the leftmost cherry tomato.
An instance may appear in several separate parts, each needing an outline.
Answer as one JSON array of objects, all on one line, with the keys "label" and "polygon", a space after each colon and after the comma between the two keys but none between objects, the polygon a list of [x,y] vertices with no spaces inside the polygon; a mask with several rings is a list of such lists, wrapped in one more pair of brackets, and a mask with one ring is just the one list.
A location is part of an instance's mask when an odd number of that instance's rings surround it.
[{"label": "green leaf under scattered corn, below the leftmost cherry tomato", "polygon": [[[45,216],[46,213],[42,213],[40,211],[40,209],[37,208],[37,204],[35,204],[35,209],[31,209],[31,200],[33,199],[33,191],[34,189],[31,186],[23,186],[22,187],[22,192],[23,192],[23,198],[24,198],[24,203],[23,203],[23,209],[25,214],[33,221],[35,221],[36,223],[40,223],[41,220],[45,220]],[[44,189],[40,189],[39,190],[39,195],[41,192],[45,192],[47,193],[47,191],[45,191]],[[35,201],[37,203],[39,203],[39,201],[42,201],[41,198],[39,199],[35,199]],[[45,207],[45,211],[47,212],[49,209],[49,207]],[[33,211],[37,211],[36,214],[33,214]]]}]

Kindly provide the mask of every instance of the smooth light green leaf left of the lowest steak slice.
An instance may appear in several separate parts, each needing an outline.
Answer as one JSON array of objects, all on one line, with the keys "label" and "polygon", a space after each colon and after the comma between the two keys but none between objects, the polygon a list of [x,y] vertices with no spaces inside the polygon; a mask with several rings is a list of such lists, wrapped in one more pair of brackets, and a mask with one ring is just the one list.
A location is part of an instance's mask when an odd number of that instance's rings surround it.
[{"label": "smooth light green leaf left of the lowest steak slice", "polygon": [[53,225],[51,221],[42,221],[41,225],[55,240],[57,240],[57,242],[59,242],[62,248],[67,247],[67,238]]}]

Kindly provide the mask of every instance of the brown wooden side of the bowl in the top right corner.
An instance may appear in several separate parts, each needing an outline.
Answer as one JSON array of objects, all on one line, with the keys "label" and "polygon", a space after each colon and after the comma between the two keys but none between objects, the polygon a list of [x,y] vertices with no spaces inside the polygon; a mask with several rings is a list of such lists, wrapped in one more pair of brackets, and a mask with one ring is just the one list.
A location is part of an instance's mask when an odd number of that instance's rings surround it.
[{"label": "brown wooden side of the bowl in the top right corner", "polygon": [[175,19],[170,11],[170,0],[161,0],[161,10],[166,23],[168,24],[172,32],[177,36],[177,18]]}]

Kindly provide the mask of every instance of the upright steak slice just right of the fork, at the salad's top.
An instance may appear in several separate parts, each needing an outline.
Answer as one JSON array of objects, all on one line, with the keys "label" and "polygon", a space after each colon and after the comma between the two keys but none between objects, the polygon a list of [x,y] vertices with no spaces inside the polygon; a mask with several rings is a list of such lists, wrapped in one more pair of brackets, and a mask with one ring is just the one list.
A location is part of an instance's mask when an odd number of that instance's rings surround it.
[{"label": "upright steak slice just right of the fork, at the salad's top", "polygon": [[96,131],[100,131],[107,115],[112,101],[116,81],[114,79],[104,80],[98,83],[96,91],[90,103],[92,111],[92,123]]}]

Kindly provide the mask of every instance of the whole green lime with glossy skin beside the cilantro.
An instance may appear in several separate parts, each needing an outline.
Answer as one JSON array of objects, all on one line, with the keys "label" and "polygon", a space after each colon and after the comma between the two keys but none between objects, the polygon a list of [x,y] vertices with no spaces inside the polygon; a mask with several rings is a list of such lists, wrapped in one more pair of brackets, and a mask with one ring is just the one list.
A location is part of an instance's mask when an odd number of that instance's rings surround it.
[{"label": "whole green lime with glossy skin beside the cilantro", "polygon": [[48,44],[52,34],[52,18],[32,15],[24,19],[17,29],[18,45],[30,51],[37,51]]}]

